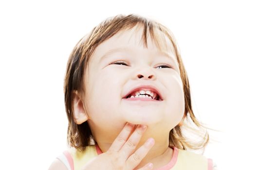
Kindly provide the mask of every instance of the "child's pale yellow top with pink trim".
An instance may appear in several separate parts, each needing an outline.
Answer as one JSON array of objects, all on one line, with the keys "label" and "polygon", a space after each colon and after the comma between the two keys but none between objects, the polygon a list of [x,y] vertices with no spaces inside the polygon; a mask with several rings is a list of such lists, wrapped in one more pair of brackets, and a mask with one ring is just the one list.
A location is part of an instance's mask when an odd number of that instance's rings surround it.
[{"label": "child's pale yellow top with pink trim", "polygon": [[[173,155],[170,162],[158,170],[213,170],[211,159],[176,147],[171,148],[173,149]],[[79,152],[75,148],[71,148],[63,153],[65,156],[59,156],[58,159],[69,170],[81,170],[91,158],[101,153],[97,145],[88,146],[84,152]]]}]

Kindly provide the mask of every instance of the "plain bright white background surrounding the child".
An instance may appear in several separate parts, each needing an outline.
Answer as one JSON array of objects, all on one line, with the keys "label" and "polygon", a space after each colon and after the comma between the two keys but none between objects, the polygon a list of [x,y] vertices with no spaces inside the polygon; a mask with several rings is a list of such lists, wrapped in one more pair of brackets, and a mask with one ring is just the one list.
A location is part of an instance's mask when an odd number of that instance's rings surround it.
[{"label": "plain bright white background surrounding the child", "polygon": [[197,117],[219,170],[255,168],[253,0],[0,2],[0,169],[46,170],[66,149],[63,80],[78,40],[117,14],[156,19],[176,36]]}]

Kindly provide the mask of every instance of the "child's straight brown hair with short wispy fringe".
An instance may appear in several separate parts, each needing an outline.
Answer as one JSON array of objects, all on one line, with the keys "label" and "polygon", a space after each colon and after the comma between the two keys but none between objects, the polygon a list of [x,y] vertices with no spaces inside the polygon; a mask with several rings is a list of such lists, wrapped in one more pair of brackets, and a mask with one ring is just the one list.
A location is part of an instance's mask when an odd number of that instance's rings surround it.
[{"label": "child's straight brown hair with short wispy fringe", "polygon": [[[209,141],[209,135],[206,128],[196,119],[191,105],[190,97],[190,87],[188,82],[187,73],[183,66],[183,61],[180,52],[177,47],[175,38],[170,30],[168,30],[164,25],[141,17],[138,15],[117,15],[115,17],[110,17],[101,22],[98,26],[94,27],[92,31],[84,36],[74,47],[68,63],[67,70],[64,81],[64,94],[65,94],[65,107],[66,113],[69,120],[68,125],[68,143],[71,147],[79,149],[81,151],[91,145],[91,129],[88,122],[82,124],[76,124],[73,119],[73,91],[77,90],[79,95],[85,94],[84,73],[88,67],[88,61],[99,44],[109,39],[114,34],[122,30],[131,29],[135,26],[143,29],[142,40],[145,47],[147,47],[147,34],[149,33],[151,38],[154,40],[158,48],[163,47],[163,38],[161,38],[159,33],[162,33],[173,45],[173,50],[175,51],[177,61],[180,69],[180,76],[183,82],[184,100],[185,100],[185,110],[184,115],[186,120],[192,120],[189,126],[186,123],[185,127],[189,127],[193,134],[201,136],[201,139],[197,142],[189,141],[187,137],[184,136],[183,127],[177,125],[169,133],[169,145],[173,145],[179,149],[201,149],[206,146]],[[85,101],[83,101],[85,103]],[[86,109],[86,108],[85,108]],[[197,127],[197,129],[193,128]]]}]

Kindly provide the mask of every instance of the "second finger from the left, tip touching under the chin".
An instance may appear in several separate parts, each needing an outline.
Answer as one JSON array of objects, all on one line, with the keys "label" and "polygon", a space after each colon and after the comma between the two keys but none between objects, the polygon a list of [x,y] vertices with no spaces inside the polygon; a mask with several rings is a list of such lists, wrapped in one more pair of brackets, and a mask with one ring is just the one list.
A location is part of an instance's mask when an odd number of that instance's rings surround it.
[{"label": "second finger from the left, tip touching under the chin", "polygon": [[124,155],[124,159],[127,160],[128,157],[134,152],[136,146],[138,145],[141,136],[146,131],[146,125],[138,125],[135,131],[128,138],[127,142],[120,149],[120,153]]}]

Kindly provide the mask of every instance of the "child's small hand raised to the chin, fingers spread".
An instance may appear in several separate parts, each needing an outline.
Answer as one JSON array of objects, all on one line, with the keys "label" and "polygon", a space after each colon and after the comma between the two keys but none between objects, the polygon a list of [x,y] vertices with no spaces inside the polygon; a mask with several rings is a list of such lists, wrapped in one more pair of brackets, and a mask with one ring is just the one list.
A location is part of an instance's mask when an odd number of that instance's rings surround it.
[{"label": "child's small hand raised to the chin, fingers spread", "polygon": [[[133,170],[154,145],[154,139],[149,138],[143,146],[135,151],[145,131],[146,125],[135,127],[135,125],[127,123],[110,149],[93,158],[82,170]],[[148,163],[138,170],[151,170],[152,168],[153,164]]]}]

